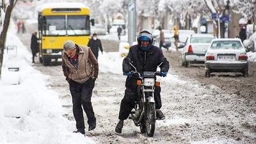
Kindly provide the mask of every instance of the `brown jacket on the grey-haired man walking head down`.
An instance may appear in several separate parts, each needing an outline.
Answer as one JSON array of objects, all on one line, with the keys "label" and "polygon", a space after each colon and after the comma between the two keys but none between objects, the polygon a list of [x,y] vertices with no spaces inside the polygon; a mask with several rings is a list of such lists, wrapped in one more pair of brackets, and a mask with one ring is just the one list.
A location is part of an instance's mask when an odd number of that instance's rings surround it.
[{"label": "brown jacket on the grey-haired man walking head down", "polygon": [[76,45],[76,49],[79,50],[77,68],[70,63],[65,51],[62,51],[62,70],[64,76],[67,79],[72,79],[73,81],[81,84],[90,79],[90,77],[92,79],[97,78],[99,73],[99,64],[93,55],[92,50],[89,47],[79,45]]}]

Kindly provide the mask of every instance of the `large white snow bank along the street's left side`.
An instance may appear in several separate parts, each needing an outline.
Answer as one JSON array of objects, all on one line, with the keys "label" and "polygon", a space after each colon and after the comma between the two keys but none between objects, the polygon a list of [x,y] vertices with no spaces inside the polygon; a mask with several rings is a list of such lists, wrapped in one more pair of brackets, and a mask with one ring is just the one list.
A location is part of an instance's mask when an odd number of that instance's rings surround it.
[{"label": "large white snow bank along the street's left side", "polygon": [[[62,116],[57,93],[47,89],[46,76],[28,64],[31,54],[13,33],[8,33],[6,45],[17,46],[17,56],[12,60],[19,62],[20,84],[0,81],[0,143],[95,143],[72,132],[76,130],[74,121]],[[3,79],[10,75],[7,57],[5,52]]]}]

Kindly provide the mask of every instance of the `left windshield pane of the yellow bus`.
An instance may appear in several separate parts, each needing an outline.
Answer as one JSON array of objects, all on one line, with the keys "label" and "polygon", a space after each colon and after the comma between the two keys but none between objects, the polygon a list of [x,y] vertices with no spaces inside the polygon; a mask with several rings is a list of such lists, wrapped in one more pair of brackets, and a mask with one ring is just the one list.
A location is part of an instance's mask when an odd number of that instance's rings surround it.
[{"label": "left windshield pane of the yellow bus", "polygon": [[66,35],[65,15],[45,16],[45,35]]}]

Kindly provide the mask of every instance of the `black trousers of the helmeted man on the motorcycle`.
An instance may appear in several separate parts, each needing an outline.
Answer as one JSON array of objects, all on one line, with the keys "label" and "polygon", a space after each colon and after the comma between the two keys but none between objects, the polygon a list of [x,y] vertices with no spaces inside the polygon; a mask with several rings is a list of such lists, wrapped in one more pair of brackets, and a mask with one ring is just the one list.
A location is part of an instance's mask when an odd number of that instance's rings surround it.
[{"label": "black trousers of the helmeted man on the motorcycle", "polygon": [[[156,86],[154,92],[154,99],[156,102],[156,109],[160,109],[162,107],[161,103],[161,87]],[[138,98],[137,88],[126,87],[124,92],[124,98],[121,101],[120,111],[119,111],[119,120],[126,120],[130,115],[132,109],[134,108],[134,104],[136,99]]]}]

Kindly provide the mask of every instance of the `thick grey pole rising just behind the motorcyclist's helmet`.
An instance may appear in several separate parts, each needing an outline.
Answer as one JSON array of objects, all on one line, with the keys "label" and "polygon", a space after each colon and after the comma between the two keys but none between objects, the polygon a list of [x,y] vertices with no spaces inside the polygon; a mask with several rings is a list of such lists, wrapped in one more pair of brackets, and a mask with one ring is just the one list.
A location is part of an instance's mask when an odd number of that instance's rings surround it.
[{"label": "thick grey pole rising just behind the motorcyclist's helmet", "polygon": [[136,41],[137,31],[136,0],[130,0],[128,10],[128,42],[132,45],[132,42]]}]

